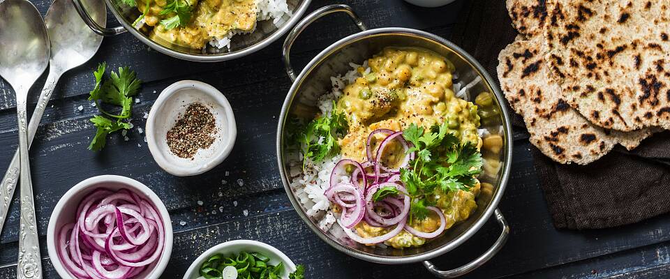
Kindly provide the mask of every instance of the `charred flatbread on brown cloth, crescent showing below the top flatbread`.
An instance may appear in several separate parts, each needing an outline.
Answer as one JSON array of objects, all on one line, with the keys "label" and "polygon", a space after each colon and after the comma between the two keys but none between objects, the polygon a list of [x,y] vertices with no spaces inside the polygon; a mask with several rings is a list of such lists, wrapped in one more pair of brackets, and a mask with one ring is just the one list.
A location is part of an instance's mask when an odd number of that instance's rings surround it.
[{"label": "charred flatbread on brown cloth, crescent showing below the top flatbread", "polygon": [[537,40],[517,40],[498,56],[498,79],[505,98],[526,122],[530,142],[558,163],[586,165],[621,144],[634,149],[653,129],[609,131],[576,112],[549,79],[546,48]]}]

